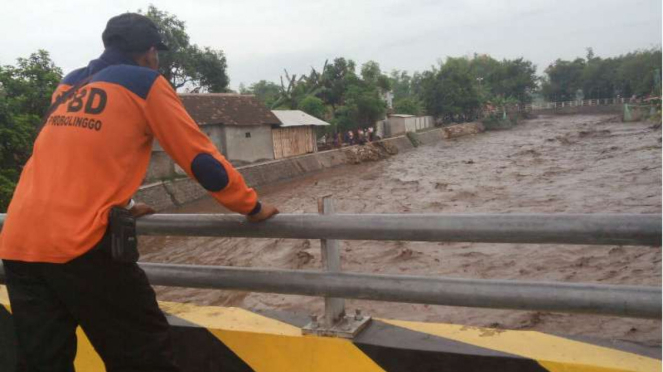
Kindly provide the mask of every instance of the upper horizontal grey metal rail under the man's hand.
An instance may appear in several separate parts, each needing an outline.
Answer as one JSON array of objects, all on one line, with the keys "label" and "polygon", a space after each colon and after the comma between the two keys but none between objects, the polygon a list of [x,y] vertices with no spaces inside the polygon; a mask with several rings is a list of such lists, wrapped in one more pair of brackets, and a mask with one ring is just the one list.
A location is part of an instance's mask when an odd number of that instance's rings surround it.
[{"label": "upper horizontal grey metal rail under the man's hand", "polygon": [[253,224],[239,215],[157,214],[141,235],[429,242],[660,245],[652,214],[280,214]]}]

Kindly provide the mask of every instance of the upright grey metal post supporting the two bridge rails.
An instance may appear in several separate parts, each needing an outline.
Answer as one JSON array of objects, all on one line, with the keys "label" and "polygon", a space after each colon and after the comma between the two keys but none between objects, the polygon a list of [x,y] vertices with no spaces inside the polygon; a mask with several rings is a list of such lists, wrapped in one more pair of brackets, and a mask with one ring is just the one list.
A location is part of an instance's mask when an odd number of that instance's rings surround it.
[{"label": "upright grey metal post supporting the two bridge rails", "polygon": [[[331,195],[323,196],[318,201],[318,212],[323,215],[334,214],[334,200]],[[320,245],[322,248],[322,269],[331,273],[340,272],[341,254],[339,253],[339,241],[336,239],[320,239]],[[344,315],[344,299],[325,297],[325,327],[333,327]]]}]

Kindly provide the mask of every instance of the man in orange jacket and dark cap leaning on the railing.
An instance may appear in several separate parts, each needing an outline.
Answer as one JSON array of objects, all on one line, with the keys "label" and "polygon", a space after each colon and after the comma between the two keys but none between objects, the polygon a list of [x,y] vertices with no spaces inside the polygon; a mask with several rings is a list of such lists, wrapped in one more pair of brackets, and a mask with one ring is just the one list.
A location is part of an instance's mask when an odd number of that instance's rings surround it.
[{"label": "man in orange jacket and dark cap leaning on the railing", "polygon": [[[140,186],[153,140],[249,221],[278,210],[258,201],[159,75],[167,47],[152,21],[113,17],[102,39],[101,57],[53,94],[0,234],[19,360],[28,371],[73,371],[80,325],[109,372],[177,371],[145,273],[112,259],[107,232],[110,209]],[[131,204],[134,216],[152,212]]]}]

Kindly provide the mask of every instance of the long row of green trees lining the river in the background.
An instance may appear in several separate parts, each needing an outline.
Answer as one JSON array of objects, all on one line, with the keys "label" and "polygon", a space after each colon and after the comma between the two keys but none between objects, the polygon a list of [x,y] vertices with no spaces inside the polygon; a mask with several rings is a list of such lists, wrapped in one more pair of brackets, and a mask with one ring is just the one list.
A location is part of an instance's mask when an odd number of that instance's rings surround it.
[{"label": "long row of green trees lining the river in the background", "polygon": [[312,69],[297,77],[286,71],[287,85],[281,78],[272,107],[296,109],[303,99],[314,96],[328,107],[331,123],[339,129],[356,129],[382,118],[386,108],[381,95],[391,90],[397,113],[433,115],[446,122],[476,120],[487,105],[501,108],[504,115],[507,107],[531,103],[534,97],[559,101],[573,100],[583,92],[587,98],[659,92],[660,60],[660,49],[605,60],[590,49],[586,59],[558,59],[540,79],[536,66],[524,58],[499,61],[475,54],[448,58],[412,75],[394,70],[389,76],[375,61],[364,63],[357,74],[354,61],[336,58],[325,62],[321,72]]}]

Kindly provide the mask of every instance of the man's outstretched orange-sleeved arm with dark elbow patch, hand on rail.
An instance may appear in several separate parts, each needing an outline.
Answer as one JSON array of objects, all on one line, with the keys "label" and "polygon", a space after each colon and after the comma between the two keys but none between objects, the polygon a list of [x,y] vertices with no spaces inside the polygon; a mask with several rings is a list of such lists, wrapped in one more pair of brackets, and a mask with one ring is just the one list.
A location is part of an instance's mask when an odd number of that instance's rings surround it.
[{"label": "man's outstretched orange-sleeved arm with dark elbow patch, hand on rail", "polygon": [[157,78],[147,96],[148,125],[161,147],[219,203],[261,221],[278,213],[258,201],[256,192],[217,150],[186,112],[179,97],[163,77]]}]

